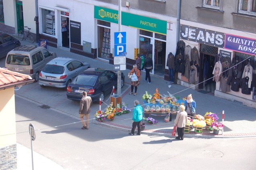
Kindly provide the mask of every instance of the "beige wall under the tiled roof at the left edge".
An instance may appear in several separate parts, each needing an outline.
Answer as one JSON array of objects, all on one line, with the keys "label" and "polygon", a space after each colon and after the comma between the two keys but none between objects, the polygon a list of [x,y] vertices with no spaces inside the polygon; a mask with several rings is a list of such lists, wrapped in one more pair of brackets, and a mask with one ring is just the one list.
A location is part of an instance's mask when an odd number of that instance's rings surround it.
[{"label": "beige wall under the tiled roof at the left edge", "polygon": [[16,144],[14,88],[0,90],[0,148]]}]

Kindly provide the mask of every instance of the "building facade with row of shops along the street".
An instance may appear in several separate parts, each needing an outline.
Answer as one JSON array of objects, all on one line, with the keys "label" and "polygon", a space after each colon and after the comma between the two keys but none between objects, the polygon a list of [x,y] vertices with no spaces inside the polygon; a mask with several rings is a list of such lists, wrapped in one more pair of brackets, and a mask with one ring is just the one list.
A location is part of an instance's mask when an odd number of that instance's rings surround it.
[{"label": "building facade with row of shops along the street", "polygon": [[[256,2],[182,0],[180,9],[177,9],[178,2],[122,1],[121,31],[127,35],[126,68],[132,68],[136,54],[148,55],[154,63],[151,74],[169,80],[166,66],[168,54],[172,52],[177,55],[177,41],[182,40],[187,47],[186,54],[189,52],[187,60],[190,64],[187,64],[184,72],[177,71],[176,83],[193,89],[213,87],[215,96],[256,108]],[[3,6],[4,24],[14,27],[18,32],[23,20],[23,26],[29,26],[32,32],[36,32],[33,21],[36,11],[34,0],[3,0]],[[76,54],[100,58],[114,64],[114,32],[119,30],[118,0],[38,0],[37,10],[40,40],[47,39],[50,46],[65,48]],[[179,12],[180,25],[177,26]],[[177,34],[180,36],[179,40],[176,39]],[[194,55],[198,55],[196,60]],[[182,57],[185,61],[185,52]],[[227,87],[223,86],[223,80],[220,81],[223,75],[216,79],[213,74],[216,71],[216,62],[222,64],[222,60],[218,58],[224,57],[230,61],[229,70],[232,70],[234,62],[238,63],[233,60],[239,59],[242,63],[239,69],[233,69],[239,72],[239,76],[232,76],[232,72],[229,76],[226,75],[227,78],[231,77]],[[252,66],[248,76],[251,88],[244,92],[242,78],[249,58]],[[192,79],[190,73],[194,75],[195,71],[190,70],[193,65],[197,67],[197,76]],[[232,87],[234,77],[239,79],[240,84],[235,90],[235,86]],[[246,82],[244,85],[247,85]]]}]

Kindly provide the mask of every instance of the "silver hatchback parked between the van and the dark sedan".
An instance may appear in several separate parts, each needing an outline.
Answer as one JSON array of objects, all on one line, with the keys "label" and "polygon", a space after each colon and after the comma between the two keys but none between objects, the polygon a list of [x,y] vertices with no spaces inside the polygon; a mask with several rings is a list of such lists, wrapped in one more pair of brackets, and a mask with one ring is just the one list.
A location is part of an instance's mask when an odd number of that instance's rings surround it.
[{"label": "silver hatchback parked between the van and the dark sedan", "polygon": [[90,67],[88,62],[57,57],[44,66],[39,74],[39,84],[41,87],[66,88],[78,74]]}]

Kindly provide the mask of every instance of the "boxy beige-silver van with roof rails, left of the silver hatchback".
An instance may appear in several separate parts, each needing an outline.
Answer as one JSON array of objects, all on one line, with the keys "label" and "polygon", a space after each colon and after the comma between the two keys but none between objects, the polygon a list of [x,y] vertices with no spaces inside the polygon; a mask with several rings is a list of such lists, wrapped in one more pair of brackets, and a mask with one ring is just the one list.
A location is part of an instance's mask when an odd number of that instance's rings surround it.
[{"label": "boxy beige-silver van with roof rails, left of the silver hatchback", "polygon": [[5,67],[11,71],[30,75],[37,82],[40,71],[46,63],[56,57],[55,52],[49,52],[44,47],[24,45],[8,52]]}]

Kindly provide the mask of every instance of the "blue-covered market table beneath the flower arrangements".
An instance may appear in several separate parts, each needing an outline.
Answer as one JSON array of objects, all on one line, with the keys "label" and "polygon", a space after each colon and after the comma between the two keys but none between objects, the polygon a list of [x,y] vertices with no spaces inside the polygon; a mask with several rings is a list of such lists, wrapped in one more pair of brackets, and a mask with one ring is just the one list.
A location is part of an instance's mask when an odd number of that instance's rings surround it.
[{"label": "blue-covered market table beneath the flower arrangements", "polygon": [[[143,101],[144,103],[144,117],[147,118],[149,117],[149,115],[152,115],[152,116],[167,116],[168,114],[170,114],[170,120],[169,121],[172,121],[172,114],[176,113],[177,112],[177,109],[179,109],[178,107],[176,106],[172,106],[171,103],[164,103],[164,104],[160,104],[159,102],[156,102],[156,104],[152,104],[152,103],[148,103],[146,102],[146,100]],[[178,103],[179,105],[181,105],[181,103],[184,103],[183,100],[177,100],[176,103]],[[145,111],[145,107],[149,106],[151,108],[151,106],[159,106],[161,108],[161,106],[170,106],[170,111],[169,112],[146,112]]]}]

